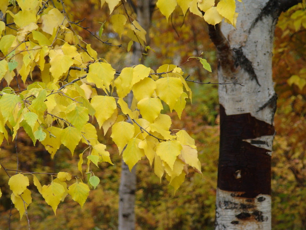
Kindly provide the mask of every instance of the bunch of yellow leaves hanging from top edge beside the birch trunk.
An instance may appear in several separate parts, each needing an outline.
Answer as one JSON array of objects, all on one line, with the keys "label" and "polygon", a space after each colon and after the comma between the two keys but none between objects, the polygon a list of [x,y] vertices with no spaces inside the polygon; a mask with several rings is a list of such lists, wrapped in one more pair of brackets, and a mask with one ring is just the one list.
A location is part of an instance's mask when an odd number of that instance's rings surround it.
[{"label": "bunch of yellow leaves hanging from top edge beside the birch trunk", "polygon": [[235,0],[158,0],[156,5],[167,20],[178,5],[184,15],[189,8],[191,13],[203,17],[208,24],[216,25],[224,18],[225,22],[236,27],[238,13],[235,12]]}]

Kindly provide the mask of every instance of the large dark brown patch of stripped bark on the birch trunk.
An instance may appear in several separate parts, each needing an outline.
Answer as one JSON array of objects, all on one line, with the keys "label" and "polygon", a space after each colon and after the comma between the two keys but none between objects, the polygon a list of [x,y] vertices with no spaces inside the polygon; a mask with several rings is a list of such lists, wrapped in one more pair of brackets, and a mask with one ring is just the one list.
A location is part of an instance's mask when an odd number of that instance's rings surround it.
[{"label": "large dark brown patch of stripped bark on the birch trunk", "polygon": [[[268,150],[243,140],[273,135],[273,125],[252,117],[250,113],[226,115],[222,105],[220,121],[218,187],[242,192],[239,197],[245,198],[271,194],[271,156],[267,154]],[[238,170],[241,178],[235,177]]]}]

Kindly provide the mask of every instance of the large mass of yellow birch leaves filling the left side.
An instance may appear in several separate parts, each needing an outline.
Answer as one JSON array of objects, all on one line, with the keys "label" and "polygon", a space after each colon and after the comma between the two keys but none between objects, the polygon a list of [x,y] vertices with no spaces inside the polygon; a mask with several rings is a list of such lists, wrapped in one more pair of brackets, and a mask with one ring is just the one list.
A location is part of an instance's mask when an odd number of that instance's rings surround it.
[{"label": "large mass of yellow birch leaves filling the left side", "polygon": [[[105,2],[110,12],[119,3]],[[9,1],[0,5],[7,23],[16,29],[0,22],[0,79],[10,85],[20,75],[25,88],[14,91],[8,86],[0,92],[1,143],[8,139],[6,127],[13,138],[22,127],[33,144],[39,140],[52,158],[62,144],[73,155],[76,146],[85,143],[88,152],[79,154],[78,169],[83,174],[83,155],[87,155],[88,182],[96,187],[99,178],[91,176],[91,163],[99,167],[99,162],[112,162],[106,145],[98,141],[95,126],[89,123],[95,118],[104,134],[111,128],[111,137],[130,170],[146,156],[151,165],[154,162],[154,172],[160,179],[166,172],[175,191],[184,181],[188,166],[201,173],[195,141],[185,130],[171,131],[171,118],[161,114],[166,104],[181,117],[186,98],[192,99],[181,68],[165,64],[155,72],[136,65],[118,74],[73,32],[65,11],[42,0],[17,3],[10,9]],[[111,21],[121,35],[126,18],[115,14]],[[145,42],[145,31],[136,21],[131,23],[130,36],[140,44]],[[27,78],[32,79],[34,70],[40,71],[40,81],[28,84]],[[131,90],[133,100],[128,106],[124,98]],[[68,173],[59,173],[58,178],[43,186],[34,175],[33,178],[54,213],[67,194],[81,206],[88,196],[89,187],[83,182],[67,189],[65,181],[71,179]],[[21,217],[32,200],[28,185],[28,177],[23,174],[9,179],[11,199]]]}]

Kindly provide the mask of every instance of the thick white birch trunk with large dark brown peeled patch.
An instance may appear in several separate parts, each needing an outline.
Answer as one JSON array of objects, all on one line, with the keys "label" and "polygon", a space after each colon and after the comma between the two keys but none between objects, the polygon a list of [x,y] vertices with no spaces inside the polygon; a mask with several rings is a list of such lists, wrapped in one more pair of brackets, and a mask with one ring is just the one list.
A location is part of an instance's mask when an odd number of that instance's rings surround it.
[{"label": "thick white birch trunk with large dark brown peeled patch", "polygon": [[277,95],[272,82],[274,26],[299,0],[237,2],[237,29],[209,26],[217,48],[220,155],[215,229],[271,229],[271,152]]}]

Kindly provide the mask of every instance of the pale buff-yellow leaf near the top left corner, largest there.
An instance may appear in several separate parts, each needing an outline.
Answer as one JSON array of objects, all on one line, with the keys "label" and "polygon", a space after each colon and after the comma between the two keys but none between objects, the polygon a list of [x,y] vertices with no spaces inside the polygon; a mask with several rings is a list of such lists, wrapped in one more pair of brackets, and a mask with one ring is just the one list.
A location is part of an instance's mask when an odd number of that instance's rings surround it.
[{"label": "pale buff-yellow leaf near the top left corner, largest there", "polygon": [[59,25],[66,25],[67,20],[65,16],[56,8],[52,8],[47,14],[40,17],[42,20],[41,29],[43,32],[48,34],[53,34],[53,29],[57,28]]}]

